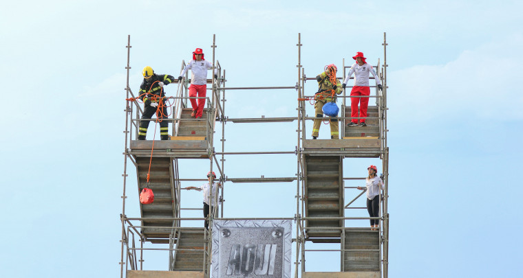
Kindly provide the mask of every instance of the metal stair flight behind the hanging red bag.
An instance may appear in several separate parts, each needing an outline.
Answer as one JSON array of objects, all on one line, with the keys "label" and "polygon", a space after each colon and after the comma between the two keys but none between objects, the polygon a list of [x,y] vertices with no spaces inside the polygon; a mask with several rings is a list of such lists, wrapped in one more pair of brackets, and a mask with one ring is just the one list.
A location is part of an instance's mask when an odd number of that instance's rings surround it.
[{"label": "metal stair flight behind the hanging red bag", "polygon": [[[142,234],[146,241],[153,243],[168,243],[172,220],[155,218],[173,218],[176,211],[176,200],[173,186],[173,165],[169,157],[136,157],[136,173],[138,174],[138,190],[147,187],[147,173],[151,161],[149,188],[153,190],[154,202],[149,205],[140,203],[142,214]],[[164,228],[163,228],[164,227]]]}]

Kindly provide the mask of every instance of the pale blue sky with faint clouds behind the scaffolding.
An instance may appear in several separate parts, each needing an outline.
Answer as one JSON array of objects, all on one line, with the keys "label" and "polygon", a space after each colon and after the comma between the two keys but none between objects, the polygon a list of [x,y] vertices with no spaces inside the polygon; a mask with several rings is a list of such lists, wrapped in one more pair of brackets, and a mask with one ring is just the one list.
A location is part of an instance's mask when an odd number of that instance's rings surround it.
[{"label": "pale blue sky with faint clouds behind the scaffolding", "polygon": [[[178,76],[196,47],[211,59],[213,34],[228,86],[294,86],[298,33],[314,77],[356,51],[383,61],[383,32],[390,277],[521,277],[522,9],[481,0],[3,3],[0,277],[119,277],[128,34],[137,92],[146,65]],[[231,118],[297,115],[294,90],[226,98]],[[295,129],[226,124],[225,150],[295,150]],[[348,177],[369,164],[381,172],[377,159],[343,163]],[[180,161],[180,174],[204,178],[208,167]],[[227,157],[225,172],[294,176],[296,157]],[[127,215],[137,217],[128,174]],[[225,186],[226,217],[295,214],[295,183]],[[201,207],[200,192],[183,194],[184,207]],[[167,268],[167,253],[145,259],[146,269]],[[339,253],[308,255],[309,271],[338,269]]]}]

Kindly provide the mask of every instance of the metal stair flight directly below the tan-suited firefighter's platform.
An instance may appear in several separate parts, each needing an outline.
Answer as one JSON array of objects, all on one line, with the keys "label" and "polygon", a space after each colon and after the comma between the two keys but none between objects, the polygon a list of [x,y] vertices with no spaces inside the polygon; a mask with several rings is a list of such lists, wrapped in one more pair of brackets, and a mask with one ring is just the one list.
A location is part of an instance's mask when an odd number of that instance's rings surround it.
[{"label": "metal stair flight directly below the tan-suited firefighter's platform", "polygon": [[339,219],[343,217],[341,157],[306,156],[305,163],[306,217],[321,218],[307,220],[307,237],[312,242],[332,242],[324,238],[340,238],[339,228],[343,227],[343,220]]}]

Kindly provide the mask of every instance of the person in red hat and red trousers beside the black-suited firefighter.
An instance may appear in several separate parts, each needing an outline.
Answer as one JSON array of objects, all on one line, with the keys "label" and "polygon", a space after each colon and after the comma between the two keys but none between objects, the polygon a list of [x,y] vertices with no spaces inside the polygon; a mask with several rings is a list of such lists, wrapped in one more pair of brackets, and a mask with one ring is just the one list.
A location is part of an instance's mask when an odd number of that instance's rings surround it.
[{"label": "person in red hat and red trousers beside the black-suited firefighter", "polygon": [[[191,69],[192,77],[191,86],[189,86],[189,97],[196,97],[197,94],[198,97],[206,96],[207,70],[212,68],[213,64],[204,59],[204,53],[202,49],[195,49],[195,51],[193,51],[193,60],[191,60],[189,64],[185,65],[182,73],[180,73],[180,76],[178,76],[178,81],[182,80],[186,71]],[[217,69],[214,69],[214,78],[218,78]],[[191,117],[195,117],[197,119],[201,118],[204,111],[205,99],[191,98],[189,100],[191,100],[191,106],[193,106],[193,113],[191,113]]]}]

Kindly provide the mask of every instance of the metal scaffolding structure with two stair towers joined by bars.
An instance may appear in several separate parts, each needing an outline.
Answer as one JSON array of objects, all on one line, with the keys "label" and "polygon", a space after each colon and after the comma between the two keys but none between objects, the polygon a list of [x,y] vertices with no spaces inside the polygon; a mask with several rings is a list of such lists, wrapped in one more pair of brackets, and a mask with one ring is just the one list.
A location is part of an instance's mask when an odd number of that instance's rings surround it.
[{"label": "metal scaffolding structure with two stair towers joined by bars", "polygon": [[[359,277],[387,278],[389,251],[389,213],[388,198],[388,164],[389,150],[387,148],[387,41],[383,34],[383,64],[378,59],[376,71],[383,84],[383,90],[374,88],[370,98],[376,100],[375,105],[367,111],[367,126],[347,127],[351,119],[350,106],[345,99],[354,96],[343,94],[341,116],[335,117],[341,123],[341,139],[307,139],[306,122],[314,119],[330,120],[334,117],[308,117],[306,114],[307,100],[314,95],[306,95],[307,78],[301,65],[301,34],[298,34],[298,74],[295,86],[258,86],[258,87],[226,87],[225,70],[215,59],[215,35],[213,35],[213,65],[217,69],[217,78],[207,80],[211,84],[211,95],[206,98],[206,108],[200,119],[190,117],[191,108],[187,105],[190,79],[187,74],[178,83],[175,96],[169,97],[172,102],[171,137],[167,141],[138,141],[138,125],[141,121],[142,109],[138,105],[137,95],[129,87],[130,67],[130,36],[127,38],[127,102],[125,106],[125,156],[122,194],[122,225],[120,278],[145,277],[210,277],[211,275],[211,235],[212,221],[248,220],[254,218],[224,218],[224,187],[215,192],[215,203],[209,220],[209,230],[194,227],[194,220],[205,218],[190,218],[182,215],[181,207],[182,181],[205,181],[199,178],[180,178],[178,166],[184,159],[208,159],[209,171],[217,170],[218,181],[222,184],[232,183],[281,183],[296,182],[297,199],[296,212],[288,218],[277,220],[294,220],[295,235],[295,271],[294,277]],[[182,61],[182,69],[185,62]],[[343,59],[343,77],[345,70]],[[339,78],[340,79],[340,78]],[[350,88],[352,86],[347,86]],[[225,103],[228,90],[257,89],[289,89],[297,92],[297,117],[257,117],[229,118],[226,117]],[[364,96],[361,96],[364,97]],[[155,121],[156,119],[151,119]],[[216,121],[222,125],[221,152],[215,151],[214,133]],[[295,150],[270,152],[225,152],[226,122],[266,123],[297,121],[297,146]],[[237,154],[288,154],[297,157],[295,176],[266,178],[228,178],[224,174],[225,157]],[[343,160],[358,161],[362,158],[381,159],[383,169],[384,189],[380,191],[380,215],[376,218],[366,216],[365,207],[351,206],[363,196],[354,194],[354,186],[345,186],[345,182],[365,180],[361,177],[348,177],[343,174]],[[155,200],[149,205],[140,205],[140,217],[129,217],[125,213],[127,198],[127,164],[131,162],[136,167],[138,193],[145,187],[153,189]],[[363,168],[363,165],[362,165]],[[150,180],[147,182],[147,175]],[[350,196],[345,198],[345,196]],[[354,198],[353,198],[354,197]],[[349,200],[347,202],[347,200]],[[131,204],[136,206],[136,204]],[[363,211],[361,216],[346,217],[345,211]],[[257,220],[276,220],[275,218],[255,218]],[[377,219],[380,224],[377,229],[359,227],[361,220]],[[189,223],[189,224],[188,224]],[[336,244],[339,248],[308,249],[306,242],[312,245]],[[149,247],[151,244],[154,244]],[[156,247],[160,246],[160,247]],[[144,270],[144,251],[163,251],[169,253],[168,270]],[[306,254],[310,252],[337,252],[340,254],[339,270],[329,273],[306,271]]]}]

